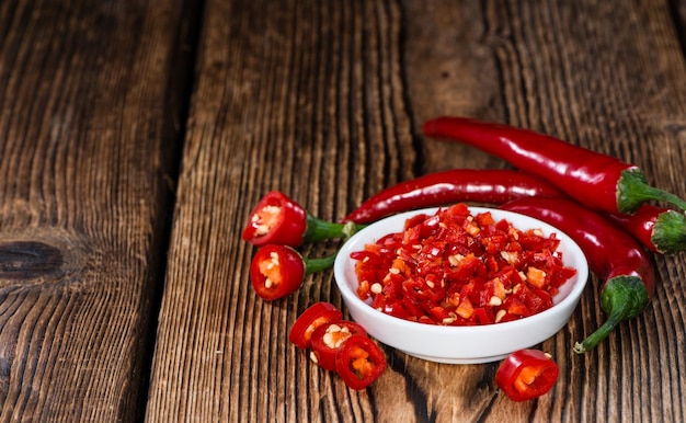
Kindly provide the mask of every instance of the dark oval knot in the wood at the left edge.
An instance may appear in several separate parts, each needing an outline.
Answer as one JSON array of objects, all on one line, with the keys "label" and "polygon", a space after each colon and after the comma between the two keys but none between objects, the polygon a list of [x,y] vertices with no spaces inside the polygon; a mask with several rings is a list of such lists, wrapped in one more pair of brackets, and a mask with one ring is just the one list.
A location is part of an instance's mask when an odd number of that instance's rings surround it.
[{"label": "dark oval knot in the wood at the left edge", "polygon": [[31,279],[61,271],[64,256],[53,245],[37,241],[0,242],[0,278]]}]

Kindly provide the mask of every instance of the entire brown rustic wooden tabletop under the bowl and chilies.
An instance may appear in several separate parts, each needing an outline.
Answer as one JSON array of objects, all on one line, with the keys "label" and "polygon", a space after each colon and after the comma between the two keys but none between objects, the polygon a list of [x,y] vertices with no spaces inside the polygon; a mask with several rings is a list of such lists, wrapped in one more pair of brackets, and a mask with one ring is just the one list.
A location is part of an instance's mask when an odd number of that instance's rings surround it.
[{"label": "entire brown rustic wooden tabletop under the bowl and chilies", "polygon": [[[332,272],[253,293],[250,209],[281,190],[336,220],[399,181],[507,163],[421,134],[442,114],[544,132],[686,197],[686,2],[0,3],[1,421],[686,420],[686,256],[596,350],[593,277],[539,347],[551,393],[498,363],[386,347],[348,390],[287,342]],[[335,243],[307,245],[324,254]]]}]

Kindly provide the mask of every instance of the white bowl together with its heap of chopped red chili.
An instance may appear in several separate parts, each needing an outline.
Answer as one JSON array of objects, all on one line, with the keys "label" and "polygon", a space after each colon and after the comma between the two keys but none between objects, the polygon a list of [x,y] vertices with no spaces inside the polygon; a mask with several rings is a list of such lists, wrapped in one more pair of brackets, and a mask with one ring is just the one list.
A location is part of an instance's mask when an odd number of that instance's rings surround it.
[{"label": "white bowl together with its heap of chopped red chili", "polygon": [[423,359],[489,363],[569,321],[588,265],[540,220],[466,204],[398,214],[348,239],[334,276],[352,318]]}]

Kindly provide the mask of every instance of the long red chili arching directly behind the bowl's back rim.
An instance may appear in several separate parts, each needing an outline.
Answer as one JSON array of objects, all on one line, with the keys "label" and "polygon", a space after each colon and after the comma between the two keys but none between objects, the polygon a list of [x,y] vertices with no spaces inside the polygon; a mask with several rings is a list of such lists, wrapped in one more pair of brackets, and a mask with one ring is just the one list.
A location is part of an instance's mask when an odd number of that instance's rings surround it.
[{"label": "long red chili arching directly behind the bowl's back rim", "polygon": [[503,204],[523,196],[562,196],[552,185],[512,170],[453,169],[400,182],[374,195],[343,221],[367,224],[399,211],[478,202]]}]

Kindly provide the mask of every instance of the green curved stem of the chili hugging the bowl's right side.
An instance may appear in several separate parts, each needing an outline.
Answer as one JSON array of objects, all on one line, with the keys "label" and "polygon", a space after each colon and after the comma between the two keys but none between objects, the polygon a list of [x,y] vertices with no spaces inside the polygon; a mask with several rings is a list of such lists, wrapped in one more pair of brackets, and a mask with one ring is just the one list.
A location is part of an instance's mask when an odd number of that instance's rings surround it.
[{"label": "green curved stem of the chili hugging the bowl's right side", "polygon": [[640,277],[616,276],[607,281],[601,297],[607,320],[585,340],[575,343],[574,352],[582,354],[593,350],[618,323],[637,317],[648,305],[648,289]]}]

